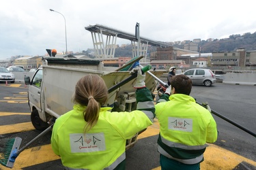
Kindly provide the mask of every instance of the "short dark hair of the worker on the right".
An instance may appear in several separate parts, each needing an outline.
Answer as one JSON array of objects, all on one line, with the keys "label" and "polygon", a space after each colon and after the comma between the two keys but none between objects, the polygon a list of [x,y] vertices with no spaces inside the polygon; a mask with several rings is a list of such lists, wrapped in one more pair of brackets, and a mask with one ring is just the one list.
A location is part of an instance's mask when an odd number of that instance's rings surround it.
[{"label": "short dark hair of the worker on the right", "polygon": [[192,81],[184,74],[173,75],[171,77],[171,88],[175,88],[176,93],[190,95]]}]

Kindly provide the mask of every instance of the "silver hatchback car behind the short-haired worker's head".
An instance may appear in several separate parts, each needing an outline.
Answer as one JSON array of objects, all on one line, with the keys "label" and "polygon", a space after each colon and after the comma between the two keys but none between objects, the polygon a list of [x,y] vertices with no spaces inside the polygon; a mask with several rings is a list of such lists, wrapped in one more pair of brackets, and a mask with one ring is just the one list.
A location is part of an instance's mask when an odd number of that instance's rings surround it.
[{"label": "silver hatchback car behind the short-haired worker's head", "polygon": [[212,86],[216,82],[215,74],[210,69],[188,69],[183,74],[192,80],[192,84]]}]

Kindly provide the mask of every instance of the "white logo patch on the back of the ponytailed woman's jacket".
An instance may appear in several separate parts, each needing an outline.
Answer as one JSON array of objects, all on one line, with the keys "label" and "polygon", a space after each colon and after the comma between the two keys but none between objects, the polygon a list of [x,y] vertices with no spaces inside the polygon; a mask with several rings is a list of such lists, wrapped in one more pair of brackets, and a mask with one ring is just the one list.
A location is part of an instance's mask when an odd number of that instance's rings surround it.
[{"label": "white logo patch on the back of the ponytailed woman's jacket", "polygon": [[72,153],[106,150],[104,133],[70,134],[70,148]]}]

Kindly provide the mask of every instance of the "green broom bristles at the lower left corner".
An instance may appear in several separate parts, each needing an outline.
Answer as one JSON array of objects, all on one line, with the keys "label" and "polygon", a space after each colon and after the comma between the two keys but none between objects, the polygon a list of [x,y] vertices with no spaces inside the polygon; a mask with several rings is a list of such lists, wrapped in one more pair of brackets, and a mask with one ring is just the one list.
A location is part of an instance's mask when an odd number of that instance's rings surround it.
[{"label": "green broom bristles at the lower left corner", "polygon": [[12,146],[14,146],[15,138],[12,139],[0,139],[0,164],[6,166],[9,156],[12,152]]}]

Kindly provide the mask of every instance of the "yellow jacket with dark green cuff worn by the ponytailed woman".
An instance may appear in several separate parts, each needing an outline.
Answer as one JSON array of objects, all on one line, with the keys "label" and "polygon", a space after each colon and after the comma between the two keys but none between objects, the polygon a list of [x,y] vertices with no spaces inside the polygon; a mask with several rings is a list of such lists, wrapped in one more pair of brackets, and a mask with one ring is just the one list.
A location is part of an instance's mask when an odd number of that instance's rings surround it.
[{"label": "yellow jacket with dark green cuff worn by the ponytailed woman", "polygon": [[[145,97],[150,95],[150,97]],[[137,109],[132,112],[109,112],[102,107],[96,125],[84,132],[85,106],[74,109],[55,121],[51,145],[61,156],[66,169],[115,169],[125,158],[126,139],[152,125],[154,102],[147,88],[137,90]],[[147,117],[148,116],[148,117]]]}]

